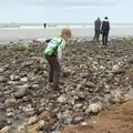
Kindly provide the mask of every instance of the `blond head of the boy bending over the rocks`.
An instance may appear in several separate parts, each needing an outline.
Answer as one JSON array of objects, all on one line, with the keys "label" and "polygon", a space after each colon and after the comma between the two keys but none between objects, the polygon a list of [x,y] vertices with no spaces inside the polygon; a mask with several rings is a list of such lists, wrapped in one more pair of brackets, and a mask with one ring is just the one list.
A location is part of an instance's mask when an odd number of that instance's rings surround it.
[{"label": "blond head of the boy bending over the rocks", "polygon": [[72,35],[71,30],[68,28],[62,29],[61,35],[64,38],[66,42],[69,42]]}]

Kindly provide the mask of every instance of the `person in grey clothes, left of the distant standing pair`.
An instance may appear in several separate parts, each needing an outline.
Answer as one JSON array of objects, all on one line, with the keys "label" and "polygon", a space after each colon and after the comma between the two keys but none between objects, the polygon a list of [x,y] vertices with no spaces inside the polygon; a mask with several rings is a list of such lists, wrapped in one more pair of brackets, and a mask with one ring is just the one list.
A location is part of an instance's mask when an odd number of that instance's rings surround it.
[{"label": "person in grey clothes, left of the distant standing pair", "polygon": [[101,28],[101,20],[98,18],[94,21],[94,41],[99,41],[100,38],[100,28]]}]

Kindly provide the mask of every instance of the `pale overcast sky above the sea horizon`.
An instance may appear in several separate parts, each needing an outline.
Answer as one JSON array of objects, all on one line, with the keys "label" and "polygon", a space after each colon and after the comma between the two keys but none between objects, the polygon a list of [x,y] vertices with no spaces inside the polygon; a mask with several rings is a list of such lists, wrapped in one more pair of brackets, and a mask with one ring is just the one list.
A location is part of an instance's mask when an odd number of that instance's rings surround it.
[{"label": "pale overcast sky above the sea horizon", "polygon": [[0,22],[133,22],[133,0],[0,0]]}]

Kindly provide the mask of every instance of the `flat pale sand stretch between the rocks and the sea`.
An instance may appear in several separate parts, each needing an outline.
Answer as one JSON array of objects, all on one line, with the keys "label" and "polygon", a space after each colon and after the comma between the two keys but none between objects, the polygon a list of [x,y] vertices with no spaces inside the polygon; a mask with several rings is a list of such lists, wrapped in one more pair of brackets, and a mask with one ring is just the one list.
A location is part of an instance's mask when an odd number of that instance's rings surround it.
[{"label": "flat pale sand stretch between the rocks and the sea", "polygon": [[[18,40],[33,40],[45,39],[60,34],[62,28],[1,28],[0,29],[0,42],[10,42]],[[93,37],[93,27],[73,27],[73,38],[79,37]],[[110,37],[133,37],[133,27],[112,27]]]}]

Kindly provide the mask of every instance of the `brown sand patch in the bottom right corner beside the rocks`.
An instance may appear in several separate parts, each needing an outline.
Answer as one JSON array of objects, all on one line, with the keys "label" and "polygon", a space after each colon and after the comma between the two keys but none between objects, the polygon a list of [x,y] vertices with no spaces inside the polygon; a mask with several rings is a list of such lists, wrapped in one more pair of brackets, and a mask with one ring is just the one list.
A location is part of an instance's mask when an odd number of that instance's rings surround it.
[{"label": "brown sand patch in the bottom right corner beside the rocks", "polygon": [[72,126],[62,133],[133,133],[133,101],[112,106],[98,117],[95,126]]}]

